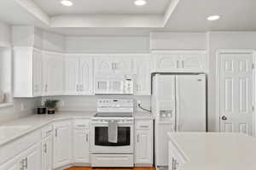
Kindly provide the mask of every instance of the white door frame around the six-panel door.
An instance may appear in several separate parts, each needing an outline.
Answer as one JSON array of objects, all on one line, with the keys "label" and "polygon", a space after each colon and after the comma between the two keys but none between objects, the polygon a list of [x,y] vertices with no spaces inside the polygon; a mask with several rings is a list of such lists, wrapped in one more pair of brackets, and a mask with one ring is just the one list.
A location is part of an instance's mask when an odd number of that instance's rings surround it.
[{"label": "white door frame around the six-panel door", "polygon": [[[215,90],[216,90],[216,130],[220,132],[220,56],[221,54],[252,54],[253,55],[253,107],[255,107],[255,57],[256,51],[253,49],[218,49],[216,52],[216,83],[215,83]],[[255,109],[253,111],[253,136],[255,136],[256,126],[255,126]]]}]

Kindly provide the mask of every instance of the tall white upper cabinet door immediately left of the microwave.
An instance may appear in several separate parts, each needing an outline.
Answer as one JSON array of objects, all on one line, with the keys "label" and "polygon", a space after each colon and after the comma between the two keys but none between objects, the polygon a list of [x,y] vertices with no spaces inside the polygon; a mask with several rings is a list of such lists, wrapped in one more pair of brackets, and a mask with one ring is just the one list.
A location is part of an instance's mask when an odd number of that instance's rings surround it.
[{"label": "tall white upper cabinet door immediately left of the microwave", "polygon": [[91,95],[93,93],[93,59],[91,57],[80,58],[80,94]]}]

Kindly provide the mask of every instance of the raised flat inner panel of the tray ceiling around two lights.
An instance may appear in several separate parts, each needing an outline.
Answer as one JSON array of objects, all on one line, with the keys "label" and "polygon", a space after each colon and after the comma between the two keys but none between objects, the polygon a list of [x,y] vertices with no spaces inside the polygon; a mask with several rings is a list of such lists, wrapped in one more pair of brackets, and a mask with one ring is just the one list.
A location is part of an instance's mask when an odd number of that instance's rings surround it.
[{"label": "raised flat inner panel of the tray ceiling around two lights", "polygon": [[60,0],[33,0],[50,16],[59,14],[164,14],[171,0],[148,0],[144,7],[134,0],[73,0],[72,7],[60,5]]}]

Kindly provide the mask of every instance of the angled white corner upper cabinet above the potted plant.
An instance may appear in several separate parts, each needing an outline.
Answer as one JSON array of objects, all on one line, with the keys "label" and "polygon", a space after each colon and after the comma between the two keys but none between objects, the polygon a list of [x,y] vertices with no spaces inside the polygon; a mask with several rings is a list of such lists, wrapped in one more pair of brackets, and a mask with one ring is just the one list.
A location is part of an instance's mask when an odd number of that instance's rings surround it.
[{"label": "angled white corner upper cabinet above the potted plant", "polygon": [[63,54],[43,53],[43,94],[61,95],[63,94]]}]

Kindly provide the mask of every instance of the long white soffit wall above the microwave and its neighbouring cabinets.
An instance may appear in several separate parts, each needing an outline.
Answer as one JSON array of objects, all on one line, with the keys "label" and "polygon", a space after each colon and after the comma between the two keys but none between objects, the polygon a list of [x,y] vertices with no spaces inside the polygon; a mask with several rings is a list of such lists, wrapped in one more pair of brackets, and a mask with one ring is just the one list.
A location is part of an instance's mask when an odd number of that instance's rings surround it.
[{"label": "long white soffit wall above the microwave and its neighbouring cabinets", "polygon": [[149,37],[66,37],[67,53],[148,53]]}]

